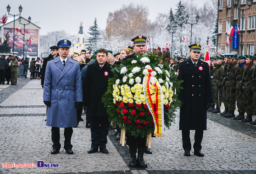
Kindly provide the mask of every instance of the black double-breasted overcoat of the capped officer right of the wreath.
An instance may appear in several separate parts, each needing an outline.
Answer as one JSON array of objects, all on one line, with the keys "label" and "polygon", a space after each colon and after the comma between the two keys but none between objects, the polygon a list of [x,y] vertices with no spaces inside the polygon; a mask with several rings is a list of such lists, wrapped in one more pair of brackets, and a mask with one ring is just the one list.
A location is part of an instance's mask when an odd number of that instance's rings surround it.
[{"label": "black double-breasted overcoat of the capped officer right of the wreath", "polygon": [[206,130],[206,107],[213,103],[209,64],[198,60],[195,67],[189,59],[179,64],[178,72],[178,79],[183,80],[178,95],[184,102],[180,109],[180,130]]}]

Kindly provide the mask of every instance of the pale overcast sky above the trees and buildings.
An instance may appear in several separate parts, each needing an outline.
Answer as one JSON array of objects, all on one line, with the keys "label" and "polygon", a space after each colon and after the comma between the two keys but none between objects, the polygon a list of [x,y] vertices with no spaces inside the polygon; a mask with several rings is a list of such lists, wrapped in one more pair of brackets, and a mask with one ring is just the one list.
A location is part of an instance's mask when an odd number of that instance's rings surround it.
[{"label": "pale overcast sky above the trees and buildings", "polygon": [[[21,16],[39,26],[40,35],[47,32],[65,30],[70,34],[79,32],[80,21],[83,22],[84,32],[93,26],[95,17],[100,29],[106,28],[109,12],[119,10],[123,4],[139,4],[148,7],[151,21],[158,13],[169,13],[170,8],[175,9],[179,0],[8,0],[2,1],[0,16],[7,13],[8,4],[10,13],[18,14],[19,6],[23,7]],[[182,0],[186,3],[190,0]],[[208,0],[194,0],[197,6],[203,6]]]}]

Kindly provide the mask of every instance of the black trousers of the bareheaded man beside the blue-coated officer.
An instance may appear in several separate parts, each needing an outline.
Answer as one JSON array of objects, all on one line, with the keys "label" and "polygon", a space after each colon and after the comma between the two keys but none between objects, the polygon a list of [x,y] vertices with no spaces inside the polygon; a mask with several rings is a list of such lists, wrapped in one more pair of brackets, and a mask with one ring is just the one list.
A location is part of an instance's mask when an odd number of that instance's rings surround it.
[{"label": "black trousers of the bareheaded man beside the blue-coated officer", "polygon": [[91,148],[106,148],[109,121],[106,116],[91,117]]}]

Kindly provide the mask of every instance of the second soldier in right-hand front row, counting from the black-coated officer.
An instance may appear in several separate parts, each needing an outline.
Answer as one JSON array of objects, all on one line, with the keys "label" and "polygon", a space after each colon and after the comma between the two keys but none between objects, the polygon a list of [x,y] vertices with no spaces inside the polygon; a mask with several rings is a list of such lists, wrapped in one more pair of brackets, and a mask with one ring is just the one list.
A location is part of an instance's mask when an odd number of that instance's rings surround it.
[{"label": "second soldier in right-hand front row, counting from the black-coated officer", "polygon": [[222,75],[222,101],[223,101],[223,104],[225,106],[225,110],[223,112],[221,112],[220,114],[221,115],[224,115],[224,114],[228,114],[229,113],[229,106],[228,106],[228,103],[227,103],[227,97],[226,97],[226,91],[227,91],[227,87],[225,85],[226,83],[226,76],[227,76],[227,73],[228,73],[228,67],[229,67],[229,59],[231,57],[229,57],[229,55],[225,55],[224,56],[224,71],[223,71],[223,75]]}]

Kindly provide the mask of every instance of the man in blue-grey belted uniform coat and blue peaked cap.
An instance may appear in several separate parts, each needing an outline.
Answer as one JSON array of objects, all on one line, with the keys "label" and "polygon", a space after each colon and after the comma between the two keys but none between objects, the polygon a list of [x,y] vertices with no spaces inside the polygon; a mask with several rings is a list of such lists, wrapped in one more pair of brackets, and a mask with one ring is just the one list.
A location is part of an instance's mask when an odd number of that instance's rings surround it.
[{"label": "man in blue-grey belted uniform coat and blue peaked cap", "polygon": [[60,128],[64,129],[64,148],[67,154],[72,151],[72,127],[77,126],[76,109],[82,107],[82,83],[77,61],[67,57],[71,42],[67,39],[58,42],[59,53],[47,63],[43,101],[47,105],[47,126],[52,127],[53,150],[60,151]]}]

